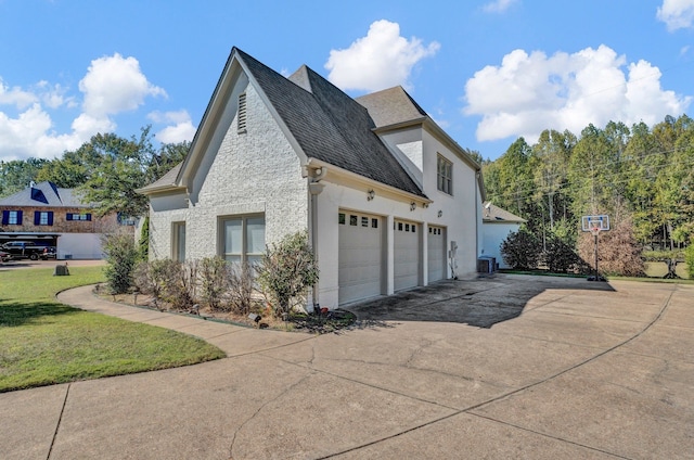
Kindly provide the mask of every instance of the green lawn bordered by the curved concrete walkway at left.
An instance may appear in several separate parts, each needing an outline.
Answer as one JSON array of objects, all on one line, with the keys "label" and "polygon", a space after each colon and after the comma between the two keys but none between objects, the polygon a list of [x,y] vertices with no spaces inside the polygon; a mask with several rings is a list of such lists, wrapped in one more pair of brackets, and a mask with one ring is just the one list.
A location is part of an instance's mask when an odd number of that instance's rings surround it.
[{"label": "green lawn bordered by the curved concrete walkway at left", "polygon": [[0,271],[0,392],[218,359],[223,352],[179,332],[67,307],[64,289],[104,281],[102,267]]}]

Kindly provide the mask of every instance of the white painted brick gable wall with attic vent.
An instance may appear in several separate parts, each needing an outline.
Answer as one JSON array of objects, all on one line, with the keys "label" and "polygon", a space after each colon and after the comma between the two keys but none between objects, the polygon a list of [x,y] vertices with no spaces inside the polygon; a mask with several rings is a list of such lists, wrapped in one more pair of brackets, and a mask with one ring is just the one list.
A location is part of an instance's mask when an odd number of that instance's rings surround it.
[{"label": "white painted brick gable wall with attic vent", "polygon": [[[219,150],[205,153],[214,159],[201,168],[206,177],[194,181],[202,184],[191,193],[196,202],[151,214],[153,258],[171,257],[171,221],[185,221],[187,259],[219,254],[220,216],[265,214],[266,244],[307,228],[308,191],[299,158],[253,86],[246,88],[246,132],[237,133],[234,116],[220,124],[227,132]],[[157,200],[163,199],[152,199],[153,208]]]}]

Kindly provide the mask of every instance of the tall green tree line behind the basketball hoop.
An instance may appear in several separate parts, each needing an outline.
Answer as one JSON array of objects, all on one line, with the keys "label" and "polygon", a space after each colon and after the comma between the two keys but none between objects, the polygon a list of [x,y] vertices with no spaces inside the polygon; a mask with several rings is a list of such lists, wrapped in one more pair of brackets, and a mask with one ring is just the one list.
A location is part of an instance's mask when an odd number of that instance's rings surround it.
[{"label": "tall green tree line behind the basketball hoop", "polygon": [[544,130],[483,161],[487,197],[527,220],[540,241],[576,247],[580,219],[608,215],[641,248],[676,250],[694,238],[694,123],[667,116],[653,127],[592,124],[580,137]]}]

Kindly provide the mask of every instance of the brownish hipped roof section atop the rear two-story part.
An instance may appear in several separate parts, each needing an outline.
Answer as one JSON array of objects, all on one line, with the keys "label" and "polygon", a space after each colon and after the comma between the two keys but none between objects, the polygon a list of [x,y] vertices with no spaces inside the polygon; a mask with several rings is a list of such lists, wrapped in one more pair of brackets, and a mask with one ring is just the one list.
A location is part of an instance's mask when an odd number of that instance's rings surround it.
[{"label": "brownish hipped roof section atop the rear two-story part", "polygon": [[367,107],[377,127],[420,120],[427,116],[424,108],[399,86],[359,97],[356,101]]}]

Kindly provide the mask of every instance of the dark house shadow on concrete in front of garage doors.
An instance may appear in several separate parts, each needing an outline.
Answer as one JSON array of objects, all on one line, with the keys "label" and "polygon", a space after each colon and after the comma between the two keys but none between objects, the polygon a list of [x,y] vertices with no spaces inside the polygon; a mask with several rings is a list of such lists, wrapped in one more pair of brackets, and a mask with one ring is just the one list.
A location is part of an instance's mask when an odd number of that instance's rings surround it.
[{"label": "dark house shadow on concrete in front of garage doors", "polygon": [[[583,278],[497,273],[470,280],[446,280],[344,308],[367,324],[437,321],[491,328],[518,317],[531,298],[548,290],[614,292],[606,282],[589,282]],[[557,297],[561,296],[563,294],[557,292]]]}]

